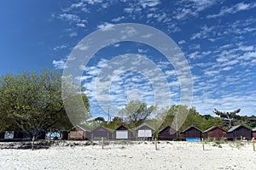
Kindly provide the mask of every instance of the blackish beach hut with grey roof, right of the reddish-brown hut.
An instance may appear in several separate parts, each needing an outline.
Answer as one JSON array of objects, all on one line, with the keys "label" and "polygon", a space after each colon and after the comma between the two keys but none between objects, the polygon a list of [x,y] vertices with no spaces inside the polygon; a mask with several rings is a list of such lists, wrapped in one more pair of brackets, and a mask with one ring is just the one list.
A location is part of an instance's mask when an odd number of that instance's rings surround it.
[{"label": "blackish beach hut with grey roof, right of the reddish-brown hut", "polygon": [[228,130],[227,139],[229,140],[252,139],[252,131],[251,129],[243,125],[237,125],[236,127],[231,127],[230,130]]}]

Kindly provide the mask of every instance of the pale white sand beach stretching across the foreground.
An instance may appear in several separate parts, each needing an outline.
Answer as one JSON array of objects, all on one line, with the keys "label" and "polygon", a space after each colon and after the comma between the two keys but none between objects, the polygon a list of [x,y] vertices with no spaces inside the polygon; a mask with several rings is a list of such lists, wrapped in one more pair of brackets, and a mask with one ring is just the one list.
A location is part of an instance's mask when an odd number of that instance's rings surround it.
[{"label": "pale white sand beach stretching across the foreground", "polygon": [[0,169],[256,169],[252,144],[222,148],[200,143],[110,144],[0,150]]}]

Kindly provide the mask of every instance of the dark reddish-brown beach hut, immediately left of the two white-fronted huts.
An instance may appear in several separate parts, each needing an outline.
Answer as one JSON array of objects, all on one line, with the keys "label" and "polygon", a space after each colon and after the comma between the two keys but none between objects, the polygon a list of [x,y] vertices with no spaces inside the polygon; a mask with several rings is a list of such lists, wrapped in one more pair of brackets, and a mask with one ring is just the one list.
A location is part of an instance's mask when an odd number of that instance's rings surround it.
[{"label": "dark reddish-brown beach hut, immediately left of the two white-fronted huts", "polygon": [[96,127],[93,131],[90,133],[90,139],[92,140],[98,140],[98,139],[112,139],[112,133],[108,128],[106,127]]}]

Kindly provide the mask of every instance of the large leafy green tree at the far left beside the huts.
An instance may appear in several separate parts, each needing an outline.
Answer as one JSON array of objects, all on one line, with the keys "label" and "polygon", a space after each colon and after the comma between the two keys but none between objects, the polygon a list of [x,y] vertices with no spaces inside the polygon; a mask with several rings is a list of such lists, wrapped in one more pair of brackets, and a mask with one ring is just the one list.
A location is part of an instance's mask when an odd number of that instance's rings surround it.
[{"label": "large leafy green tree at the far left beside the huts", "polygon": [[57,71],[1,77],[0,113],[9,120],[8,124],[15,123],[36,138],[39,132],[52,127],[60,130],[72,127],[61,99],[61,74]]}]

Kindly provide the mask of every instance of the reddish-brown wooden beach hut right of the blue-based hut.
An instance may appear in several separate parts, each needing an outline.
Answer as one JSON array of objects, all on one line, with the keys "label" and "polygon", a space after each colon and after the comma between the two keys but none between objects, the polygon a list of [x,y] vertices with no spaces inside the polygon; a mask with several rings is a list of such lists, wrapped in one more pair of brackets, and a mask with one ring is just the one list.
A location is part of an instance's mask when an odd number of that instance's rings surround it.
[{"label": "reddish-brown wooden beach hut right of the blue-based hut", "polygon": [[210,127],[202,133],[204,139],[226,139],[227,132],[221,127]]}]

